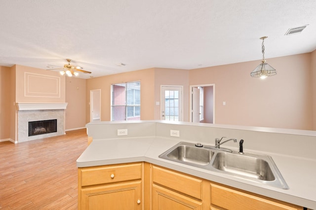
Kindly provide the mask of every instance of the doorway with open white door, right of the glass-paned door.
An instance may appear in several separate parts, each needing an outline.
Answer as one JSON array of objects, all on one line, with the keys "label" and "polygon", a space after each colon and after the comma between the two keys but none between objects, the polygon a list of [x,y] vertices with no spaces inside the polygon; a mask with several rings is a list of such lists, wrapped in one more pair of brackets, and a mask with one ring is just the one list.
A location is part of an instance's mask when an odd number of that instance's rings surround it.
[{"label": "doorway with open white door, right of the glass-paned door", "polygon": [[215,84],[190,85],[190,122],[215,123]]}]

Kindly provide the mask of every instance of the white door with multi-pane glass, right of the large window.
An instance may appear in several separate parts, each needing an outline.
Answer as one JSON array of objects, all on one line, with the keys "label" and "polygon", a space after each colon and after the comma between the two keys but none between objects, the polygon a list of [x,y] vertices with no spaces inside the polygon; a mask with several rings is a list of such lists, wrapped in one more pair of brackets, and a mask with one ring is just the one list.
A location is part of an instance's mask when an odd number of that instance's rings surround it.
[{"label": "white door with multi-pane glass, right of the large window", "polygon": [[182,86],[161,86],[161,120],[182,121]]}]

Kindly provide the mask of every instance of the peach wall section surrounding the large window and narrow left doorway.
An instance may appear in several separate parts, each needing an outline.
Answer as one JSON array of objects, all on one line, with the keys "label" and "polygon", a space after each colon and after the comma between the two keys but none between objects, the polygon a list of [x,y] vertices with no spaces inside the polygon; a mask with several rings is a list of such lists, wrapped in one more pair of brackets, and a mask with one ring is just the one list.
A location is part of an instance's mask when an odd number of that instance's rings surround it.
[{"label": "peach wall section surrounding the large window and narrow left doorway", "polygon": [[101,89],[101,120],[111,120],[111,85],[140,81],[141,120],[154,119],[154,69],[118,73],[86,80],[86,123],[90,121],[90,90]]}]

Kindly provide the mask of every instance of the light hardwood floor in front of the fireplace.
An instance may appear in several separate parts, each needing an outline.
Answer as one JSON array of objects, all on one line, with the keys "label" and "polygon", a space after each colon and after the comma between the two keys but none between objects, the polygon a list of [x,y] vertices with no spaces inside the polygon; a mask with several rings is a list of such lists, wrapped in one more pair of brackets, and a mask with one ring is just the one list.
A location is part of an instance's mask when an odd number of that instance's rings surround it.
[{"label": "light hardwood floor in front of the fireplace", "polygon": [[80,129],[18,144],[0,142],[0,209],[78,209],[76,160],[87,140]]}]

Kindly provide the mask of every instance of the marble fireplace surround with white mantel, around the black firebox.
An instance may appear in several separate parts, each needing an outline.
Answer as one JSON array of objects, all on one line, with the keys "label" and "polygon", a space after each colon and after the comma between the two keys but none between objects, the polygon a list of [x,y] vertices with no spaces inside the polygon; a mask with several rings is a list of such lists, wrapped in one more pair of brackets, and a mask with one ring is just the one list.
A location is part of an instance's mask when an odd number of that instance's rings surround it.
[{"label": "marble fireplace surround with white mantel, around the black firebox", "polygon": [[[65,134],[65,110],[68,103],[17,103],[17,139],[15,143]],[[57,132],[29,137],[29,122],[57,119]]]}]

